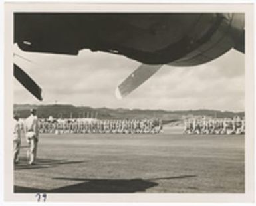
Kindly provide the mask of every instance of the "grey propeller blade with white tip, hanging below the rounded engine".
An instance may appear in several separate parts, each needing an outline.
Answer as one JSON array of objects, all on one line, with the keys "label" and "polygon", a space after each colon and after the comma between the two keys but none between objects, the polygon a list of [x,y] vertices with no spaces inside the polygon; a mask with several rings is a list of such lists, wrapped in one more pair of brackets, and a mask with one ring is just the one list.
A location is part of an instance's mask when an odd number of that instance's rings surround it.
[{"label": "grey propeller blade with white tip, hanging below the rounded engine", "polygon": [[140,65],[130,76],[128,76],[117,88],[116,88],[116,98],[121,99],[124,96],[130,94],[133,90],[138,88],[140,84],[148,80],[150,76],[155,74],[162,64],[158,65]]}]

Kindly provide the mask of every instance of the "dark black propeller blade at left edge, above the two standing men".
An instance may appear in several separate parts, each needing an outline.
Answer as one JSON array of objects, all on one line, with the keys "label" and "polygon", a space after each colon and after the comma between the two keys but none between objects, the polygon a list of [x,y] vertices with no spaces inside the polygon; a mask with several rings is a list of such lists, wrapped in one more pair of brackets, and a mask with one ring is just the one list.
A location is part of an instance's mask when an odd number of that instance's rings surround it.
[{"label": "dark black propeller blade at left edge, above the two standing men", "polygon": [[43,100],[41,93],[42,89],[35,83],[35,81],[26,74],[19,66],[13,64],[13,74],[15,78],[33,94],[38,100]]}]

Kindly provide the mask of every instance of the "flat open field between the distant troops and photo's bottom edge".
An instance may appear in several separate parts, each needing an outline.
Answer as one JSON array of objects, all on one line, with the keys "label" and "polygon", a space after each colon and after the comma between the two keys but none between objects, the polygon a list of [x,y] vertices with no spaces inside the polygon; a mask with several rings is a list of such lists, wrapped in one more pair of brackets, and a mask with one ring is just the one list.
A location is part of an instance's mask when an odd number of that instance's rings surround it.
[{"label": "flat open field between the distant troops and photo's bottom edge", "polygon": [[244,136],[41,134],[16,193],[244,193]]}]

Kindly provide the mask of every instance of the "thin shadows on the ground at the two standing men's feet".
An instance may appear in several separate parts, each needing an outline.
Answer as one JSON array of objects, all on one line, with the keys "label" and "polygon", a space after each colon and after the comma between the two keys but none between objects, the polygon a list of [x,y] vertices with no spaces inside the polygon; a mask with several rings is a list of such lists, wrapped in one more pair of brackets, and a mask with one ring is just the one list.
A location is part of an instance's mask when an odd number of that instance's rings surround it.
[{"label": "thin shadows on the ground at the two standing men's feet", "polygon": [[58,165],[68,165],[83,163],[84,161],[66,161],[66,160],[57,160],[57,159],[37,159],[35,165],[27,165],[27,159],[21,158],[19,163],[15,165],[14,170],[22,169],[44,169],[50,167],[57,167]]}]

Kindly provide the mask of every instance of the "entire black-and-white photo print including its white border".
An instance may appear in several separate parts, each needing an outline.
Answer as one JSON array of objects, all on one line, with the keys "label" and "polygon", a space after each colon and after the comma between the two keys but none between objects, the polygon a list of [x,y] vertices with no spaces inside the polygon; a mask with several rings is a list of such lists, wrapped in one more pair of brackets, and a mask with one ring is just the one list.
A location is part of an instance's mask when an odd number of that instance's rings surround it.
[{"label": "entire black-and-white photo print including its white border", "polygon": [[252,5],[15,5],[5,7],[13,201],[252,201]]}]

